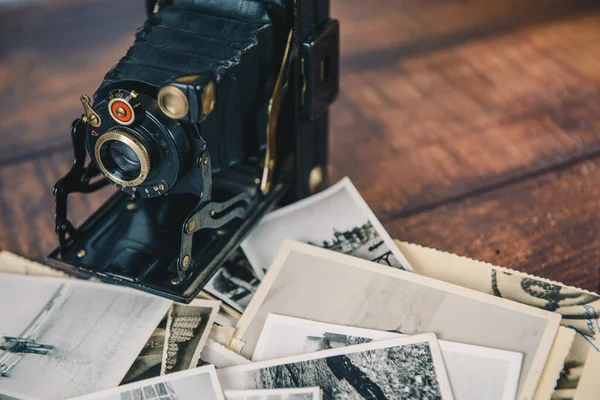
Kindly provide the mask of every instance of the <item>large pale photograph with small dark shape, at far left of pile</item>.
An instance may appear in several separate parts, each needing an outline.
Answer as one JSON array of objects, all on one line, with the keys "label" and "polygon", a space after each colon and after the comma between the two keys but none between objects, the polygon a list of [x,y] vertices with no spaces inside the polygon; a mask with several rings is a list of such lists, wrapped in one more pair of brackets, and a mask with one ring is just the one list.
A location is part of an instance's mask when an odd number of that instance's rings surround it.
[{"label": "large pale photograph with small dark shape, at far left of pile", "polygon": [[64,399],[117,386],[171,301],[113,285],[0,274],[0,394]]}]

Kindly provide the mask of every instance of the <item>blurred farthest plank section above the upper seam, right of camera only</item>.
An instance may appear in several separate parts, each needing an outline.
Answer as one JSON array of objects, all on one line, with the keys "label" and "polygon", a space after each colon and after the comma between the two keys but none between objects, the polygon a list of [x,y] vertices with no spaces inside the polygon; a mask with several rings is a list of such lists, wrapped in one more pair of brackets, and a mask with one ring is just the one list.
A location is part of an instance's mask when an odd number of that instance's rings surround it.
[{"label": "blurred farthest plank section above the upper seam, right of camera only", "polygon": [[[367,5],[368,4],[368,5]],[[597,6],[593,0],[331,0],[347,69],[389,65],[408,53],[457,44]]]}]

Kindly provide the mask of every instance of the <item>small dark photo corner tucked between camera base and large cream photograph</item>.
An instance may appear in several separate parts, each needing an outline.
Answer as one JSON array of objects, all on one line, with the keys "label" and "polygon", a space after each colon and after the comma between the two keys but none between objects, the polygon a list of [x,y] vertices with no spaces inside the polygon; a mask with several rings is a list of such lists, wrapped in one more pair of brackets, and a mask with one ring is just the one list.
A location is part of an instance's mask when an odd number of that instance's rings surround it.
[{"label": "small dark photo corner tucked between camera base and large cream photograph", "polygon": [[260,279],[241,249],[235,250],[204,290],[236,311],[243,312],[256,293]]}]

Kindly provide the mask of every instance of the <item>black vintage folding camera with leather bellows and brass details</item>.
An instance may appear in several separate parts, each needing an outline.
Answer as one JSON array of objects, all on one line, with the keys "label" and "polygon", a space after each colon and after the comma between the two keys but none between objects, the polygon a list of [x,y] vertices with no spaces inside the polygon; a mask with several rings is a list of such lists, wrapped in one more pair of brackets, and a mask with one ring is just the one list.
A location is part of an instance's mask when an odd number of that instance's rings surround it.
[{"label": "black vintage folding camera with leather bellows and brass details", "polygon": [[[55,268],[191,301],[270,209],[327,182],[328,0],[159,0],[71,128]],[[91,161],[86,165],[86,154]],[[80,227],[70,193],[118,190]]]}]

